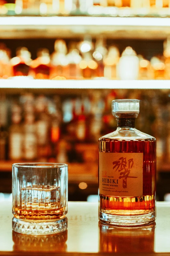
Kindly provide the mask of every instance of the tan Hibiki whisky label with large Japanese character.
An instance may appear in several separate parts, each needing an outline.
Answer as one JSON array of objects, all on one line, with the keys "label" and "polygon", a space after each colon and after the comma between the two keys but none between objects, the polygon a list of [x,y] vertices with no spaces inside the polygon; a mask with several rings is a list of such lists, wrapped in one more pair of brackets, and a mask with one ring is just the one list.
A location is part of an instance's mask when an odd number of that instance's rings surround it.
[{"label": "tan Hibiki whisky label with large Japanese character", "polygon": [[99,193],[106,196],[143,195],[143,153],[99,152]]}]

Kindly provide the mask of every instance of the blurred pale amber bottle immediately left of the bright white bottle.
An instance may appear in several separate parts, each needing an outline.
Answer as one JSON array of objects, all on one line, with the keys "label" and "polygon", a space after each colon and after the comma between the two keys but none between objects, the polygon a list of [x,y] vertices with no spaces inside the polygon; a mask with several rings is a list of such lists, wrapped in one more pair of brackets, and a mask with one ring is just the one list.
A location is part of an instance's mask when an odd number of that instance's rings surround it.
[{"label": "blurred pale amber bottle immediately left of the bright white bottle", "polygon": [[104,58],[104,77],[118,79],[117,65],[120,59],[120,52],[116,46],[110,46],[108,54]]}]

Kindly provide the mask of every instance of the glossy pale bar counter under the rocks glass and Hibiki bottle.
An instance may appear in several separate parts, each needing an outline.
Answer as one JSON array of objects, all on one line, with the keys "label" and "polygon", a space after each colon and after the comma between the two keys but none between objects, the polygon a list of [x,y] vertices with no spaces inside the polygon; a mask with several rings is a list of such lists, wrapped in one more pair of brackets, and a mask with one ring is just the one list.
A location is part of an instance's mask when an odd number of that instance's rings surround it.
[{"label": "glossy pale bar counter under the rocks glass and Hibiki bottle", "polygon": [[98,222],[98,204],[68,203],[68,230],[57,235],[28,236],[12,231],[12,204],[0,203],[2,255],[170,255],[170,203],[157,202],[156,225],[115,228]]}]

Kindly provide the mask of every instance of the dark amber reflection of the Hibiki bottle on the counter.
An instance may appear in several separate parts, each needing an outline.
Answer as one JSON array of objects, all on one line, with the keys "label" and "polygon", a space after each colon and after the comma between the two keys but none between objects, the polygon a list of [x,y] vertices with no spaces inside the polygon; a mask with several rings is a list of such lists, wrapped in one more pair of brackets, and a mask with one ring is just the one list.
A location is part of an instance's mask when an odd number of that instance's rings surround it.
[{"label": "dark amber reflection of the Hibiki bottle on the counter", "polygon": [[154,252],[155,224],[139,228],[118,228],[99,222],[100,252]]}]

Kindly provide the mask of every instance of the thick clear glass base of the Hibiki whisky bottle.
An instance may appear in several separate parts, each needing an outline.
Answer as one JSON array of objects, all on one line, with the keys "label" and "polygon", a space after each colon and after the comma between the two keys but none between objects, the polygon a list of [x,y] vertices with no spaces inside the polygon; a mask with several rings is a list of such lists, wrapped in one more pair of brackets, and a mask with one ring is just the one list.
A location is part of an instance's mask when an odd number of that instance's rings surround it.
[{"label": "thick clear glass base of the Hibiki whisky bottle", "polygon": [[114,215],[100,212],[101,223],[120,227],[145,226],[155,222],[155,212],[141,215]]}]

